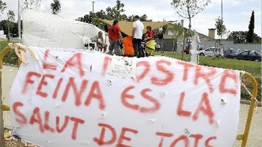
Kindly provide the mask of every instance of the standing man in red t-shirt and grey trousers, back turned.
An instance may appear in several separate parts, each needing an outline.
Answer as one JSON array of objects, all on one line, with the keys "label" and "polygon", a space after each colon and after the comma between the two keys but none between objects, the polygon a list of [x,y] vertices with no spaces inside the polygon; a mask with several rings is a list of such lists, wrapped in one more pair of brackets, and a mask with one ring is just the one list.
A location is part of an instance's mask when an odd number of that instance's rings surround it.
[{"label": "standing man in red t-shirt and grey trousers, back turned", "polygon": [[121,30],[118,26],[118,20],[114,20],[113,26],[110,26],[108,28],[108,36],[109,36],[109,52],[108,54],[113,55],[113,50],[116,53],[117,46],[119,43],[119,39],[121,39],[121,42],[123,42],[123,38],[121,35]]}]

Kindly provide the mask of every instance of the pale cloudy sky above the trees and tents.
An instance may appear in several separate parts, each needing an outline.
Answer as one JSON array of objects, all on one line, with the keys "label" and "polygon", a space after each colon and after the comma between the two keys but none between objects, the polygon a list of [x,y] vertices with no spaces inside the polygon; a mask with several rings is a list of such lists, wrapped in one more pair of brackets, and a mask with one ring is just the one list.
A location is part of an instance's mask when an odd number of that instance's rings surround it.
[{"label": "pale cloudy sky above the trees and tents", "polygon": [[[18,0],[2,0],[7,3],[7,9],[0,19],[6,19],[7,10],[18,13]],[[40,11],[51,13],[50,4],[53,0],[42,0]],[[76,19],[92,11],[93,0],[60,0],[61,12],[59,15]],[[116,0],[94,0],[94,12],[113,7]],[[171,7],[171,0],[121,0],[125,4],[127,16],[146,14],[153,21],[180,21],[180,18]],[[229,31],[248,31],[252,10],[255,12],[254,32],[261,36],[261,0],[223,0],[223,20]],[[215,28],[215,19],[221,16],[221,0],[211,0],[205,10],[192,18],[192,29],[208,35],[208,29]],[[184,27],[188,27],[188,20],[184,20]],[[226,37],[226,36],[225,36]],[[224,38],[225,38],[224,37]],[[216,38],[218,36],[216,35]]]}]

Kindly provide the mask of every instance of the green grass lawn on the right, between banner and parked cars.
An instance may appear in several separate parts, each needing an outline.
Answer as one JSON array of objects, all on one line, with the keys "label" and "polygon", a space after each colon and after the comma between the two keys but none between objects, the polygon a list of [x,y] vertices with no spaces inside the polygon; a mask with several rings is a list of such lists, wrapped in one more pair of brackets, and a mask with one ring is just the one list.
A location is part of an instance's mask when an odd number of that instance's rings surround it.
[{"label": "green grass lawn on the right, between banner and parked cars", "polygon": [[[173,52],[153,52],[153,55],[168,56],[176,59],[181,59],[182,54]],[[188,60],[188,55],[184,55],[184,61]],[[244,61],[236,59],[227,58],[216,58],[199,56],[199,64],[209,67],[219,67],[227,69],[243,70],[252,74],[258,82],[258,97],[257,99],[261,101],[261,62],[255,61]],[[249,79],[243,78],[243,83],[248,87],[249,91],[252,89],[252,83]],[[241,99],[249,100],[250,97],[244,88],[241,88]]]}]

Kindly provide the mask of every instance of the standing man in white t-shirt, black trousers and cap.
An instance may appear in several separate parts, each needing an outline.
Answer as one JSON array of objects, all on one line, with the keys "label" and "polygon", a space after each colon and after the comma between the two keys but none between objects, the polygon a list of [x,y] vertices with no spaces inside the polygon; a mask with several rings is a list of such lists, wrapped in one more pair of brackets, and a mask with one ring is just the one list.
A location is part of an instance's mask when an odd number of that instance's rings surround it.
[{"label": "standing man in white t-shirt, black trousers and cap", "polygon": [[139,16],[135,15],[134,18],[135,22],[133,23],[133,31],[132,31],[132,37],[133,37],[133,47],[135,50],[135,56],[137,58],[143,57],[143,51],[141,48],[141,41],[142,41],[142,35],[143,35],[143,29],[144,25],[139,20]]}]

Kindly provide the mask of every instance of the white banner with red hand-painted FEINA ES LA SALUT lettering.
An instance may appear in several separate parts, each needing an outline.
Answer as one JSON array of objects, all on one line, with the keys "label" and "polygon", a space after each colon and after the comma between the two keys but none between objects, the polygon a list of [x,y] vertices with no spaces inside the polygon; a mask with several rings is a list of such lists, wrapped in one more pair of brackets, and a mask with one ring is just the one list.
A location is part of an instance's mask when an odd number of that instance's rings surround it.
[{"label": "white banner with red hand-painted FEINA ES LA SALUT lettering", "polygon": [[229,147],[239,71],[163,57],[31,48],[10,92],[13,135],[39,146]]}]

